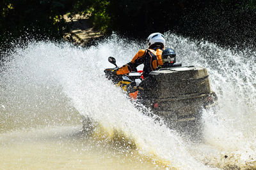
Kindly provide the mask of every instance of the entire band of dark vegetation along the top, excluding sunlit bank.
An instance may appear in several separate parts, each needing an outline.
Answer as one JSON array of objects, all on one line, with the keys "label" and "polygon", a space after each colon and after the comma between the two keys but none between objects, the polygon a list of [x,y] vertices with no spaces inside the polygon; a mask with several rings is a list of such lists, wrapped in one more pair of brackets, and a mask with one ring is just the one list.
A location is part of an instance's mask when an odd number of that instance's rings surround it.
[{"label": "entire band of dark vegetation along the top, excluding sunlit bank", "polygon": [[19,39],[63,39],[63,19],[89,15],[95,29],[128,38],[171,31],[221,46],[255,47],[256,0],[1,0],[0,49]]}]

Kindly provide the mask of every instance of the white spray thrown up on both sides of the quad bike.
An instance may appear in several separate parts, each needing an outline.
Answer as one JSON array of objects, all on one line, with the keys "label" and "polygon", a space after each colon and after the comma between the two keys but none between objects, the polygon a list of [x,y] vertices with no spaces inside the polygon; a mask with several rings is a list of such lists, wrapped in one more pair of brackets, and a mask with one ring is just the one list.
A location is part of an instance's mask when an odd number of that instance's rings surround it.
[{"label": "white spray thrown up on both sides of the quad bike", "polygon": [[[218,114],[204,112],[204,143],[187,143],[175,131],[155,123],[104,78],[103,70],[112,67],[108,56],[116,57],[121,66],[145,48],[115,34],[87,49],[51,42],[31,42],[15,49],[1,68],[1,131],[15,129],[19,122],[20,127],[38,122],[77,124],[81,114],[105,129],[123,132],[138,152],[168,167],[255,168],[255,52],[233,52],[168,32],[165,36],[166,46],[175,49],[183,66],[208,68],[212,90],[218,95]],[[54,119],[61,114],[77,117],[77,122]]]}]

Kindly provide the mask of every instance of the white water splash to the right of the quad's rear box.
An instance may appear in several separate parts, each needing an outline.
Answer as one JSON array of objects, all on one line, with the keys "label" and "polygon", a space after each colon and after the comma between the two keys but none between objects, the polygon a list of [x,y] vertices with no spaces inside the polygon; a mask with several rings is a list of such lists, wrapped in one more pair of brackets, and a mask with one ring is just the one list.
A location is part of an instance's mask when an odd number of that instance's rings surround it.
[{"label": "white water splash to the right of the quad's rear box", "polygon": [[205,145],[195,146],[191,153],[211,166],[218,162],[224,169],[255,168],[256,53],[234,52],[173,34],[167,37],[178,60],[208,68],[212,90],[218,96],[218,115],[204,113]]}]

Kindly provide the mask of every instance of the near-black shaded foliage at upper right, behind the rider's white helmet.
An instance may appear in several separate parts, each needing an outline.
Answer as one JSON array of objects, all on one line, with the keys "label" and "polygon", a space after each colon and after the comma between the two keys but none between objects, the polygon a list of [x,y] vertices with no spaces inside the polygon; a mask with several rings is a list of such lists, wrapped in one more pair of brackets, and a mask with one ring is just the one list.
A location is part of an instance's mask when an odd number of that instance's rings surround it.
[{"label": "near-black shaded foliage at upper right, behind the rider's white helmet", "polygon": [[256,40],[256,0],[111,0],[111,31],[145,38],[171,31],[221,45]]}]

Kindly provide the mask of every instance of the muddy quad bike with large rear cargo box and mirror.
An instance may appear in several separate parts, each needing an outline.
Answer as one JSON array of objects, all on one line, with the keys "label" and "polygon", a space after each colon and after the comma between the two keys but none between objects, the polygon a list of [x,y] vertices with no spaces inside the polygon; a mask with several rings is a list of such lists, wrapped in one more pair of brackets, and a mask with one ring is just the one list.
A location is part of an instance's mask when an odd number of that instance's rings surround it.
[{"label": "muddy quad bike with large rear cargo box and mirror", "polygon": [[[116,60],[109,57],[109,62]],[[173,63],[141,78],[141,72],[116,75],[115,68],[105,69],[109,80],[122,87],[132,99],[150,108],[163,118],[171,129],[180,132],[202,132],[202,110],[217,106],[217,96],[211,90],[205,67],[182,66]]]}]

